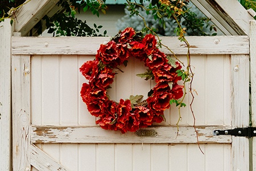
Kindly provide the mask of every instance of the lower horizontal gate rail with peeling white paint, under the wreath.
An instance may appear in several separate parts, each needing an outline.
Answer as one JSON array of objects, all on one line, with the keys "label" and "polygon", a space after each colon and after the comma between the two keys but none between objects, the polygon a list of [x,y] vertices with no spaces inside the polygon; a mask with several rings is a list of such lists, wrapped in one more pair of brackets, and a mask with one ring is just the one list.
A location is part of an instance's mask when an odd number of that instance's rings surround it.
[{"label": "lower horizontal gate rail with peeling white paint, under the wreath", "polygon": [[[213,136],[213,130],[229,129],[224,126],[197,127],[200,143],[232,143],[232,136]],[[156,136],[137,136],[134,132],[122,134],[119,131],[103,130],[98,126],[64,127],[64,126],[31,126],[32,143],[197,143],[192,126],[149,127],[143,130],[154,130]]]}]

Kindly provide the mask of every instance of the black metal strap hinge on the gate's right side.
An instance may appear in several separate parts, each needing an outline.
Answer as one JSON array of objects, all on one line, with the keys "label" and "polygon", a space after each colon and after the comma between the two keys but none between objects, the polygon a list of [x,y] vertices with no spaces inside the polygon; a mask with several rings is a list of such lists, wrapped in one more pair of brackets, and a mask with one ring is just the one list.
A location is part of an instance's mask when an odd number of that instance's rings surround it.
[{"label": "black metal strap hinge on the gate's right side", "polygon": [[233,135],[233,136],[256,136],[256,127],[234,128],[233,130],[214,130],[213,135]]}]

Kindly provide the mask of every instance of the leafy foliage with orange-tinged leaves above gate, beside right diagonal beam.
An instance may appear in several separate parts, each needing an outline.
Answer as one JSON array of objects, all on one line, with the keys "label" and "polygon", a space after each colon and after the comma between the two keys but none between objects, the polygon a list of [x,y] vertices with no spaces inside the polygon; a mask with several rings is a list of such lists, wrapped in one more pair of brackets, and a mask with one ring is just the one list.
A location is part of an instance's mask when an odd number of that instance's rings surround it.
[{"label": "leafy foliage with orange-tinged leaves above gate, beside right diagonal beam", "polygon": [[[164,36],[168,27],[176,26],[177,28],[174,31],[177,36],[184,35],[186,32],[194,36],[210,35],[208,32],[211,32],[211,35],[217,35],[216,27],[208,18],[199,18],[195,12],[188,9],[188,1],[144,0],[143,5],[130,0],[126,1],[130,17],[140,16],[144,20],[144,25],[147,25],[147,27],[145,26],[142,30],[145,32],[155,32]],[[143,11],[146,15],[154,18],[155,22],[149,22]],[[179,24],[183,26],[184,30],[180,30]]]}]

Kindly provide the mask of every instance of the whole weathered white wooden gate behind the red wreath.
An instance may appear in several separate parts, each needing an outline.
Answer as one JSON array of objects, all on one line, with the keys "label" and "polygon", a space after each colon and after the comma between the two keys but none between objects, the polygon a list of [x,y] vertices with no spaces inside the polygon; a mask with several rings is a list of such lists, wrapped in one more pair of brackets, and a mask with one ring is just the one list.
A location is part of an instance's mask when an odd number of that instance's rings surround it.
[{"label": "whole weathered white wooden gate behind the red wreath", "polygon": [[[204,155],[188,107],[181,111],[177,137],[175,106],[166,112],[165,123],[146,128],[158,133],[154,137],[96,126],[80,98],[86,80],[79,67],[104,41],[109,37],[12,38],[14,170],[249,170],[246,137],[212,134],[249,124],[247,36],[188,37],[198,93],[193,110]],[[185,61],[187,48],[176,37],[162,37],[162,42]],[[146,96],[154,82],[135,76],[144,69],[130,59],[110,97]]]}]

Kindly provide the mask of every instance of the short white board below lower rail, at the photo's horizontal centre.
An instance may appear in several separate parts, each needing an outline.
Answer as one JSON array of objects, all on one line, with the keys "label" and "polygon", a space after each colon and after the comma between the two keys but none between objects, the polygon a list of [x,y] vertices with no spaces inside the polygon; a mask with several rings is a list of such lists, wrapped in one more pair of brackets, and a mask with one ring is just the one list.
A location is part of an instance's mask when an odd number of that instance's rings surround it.
[{"label": "short white board below lower rail, at the photo's horizontal centre", "polygon": [[115,170],[133,170],[132,144],[115,144]]}]

